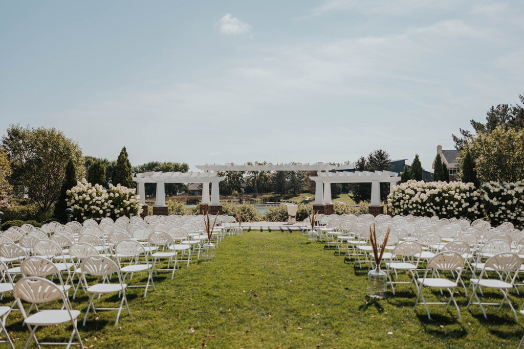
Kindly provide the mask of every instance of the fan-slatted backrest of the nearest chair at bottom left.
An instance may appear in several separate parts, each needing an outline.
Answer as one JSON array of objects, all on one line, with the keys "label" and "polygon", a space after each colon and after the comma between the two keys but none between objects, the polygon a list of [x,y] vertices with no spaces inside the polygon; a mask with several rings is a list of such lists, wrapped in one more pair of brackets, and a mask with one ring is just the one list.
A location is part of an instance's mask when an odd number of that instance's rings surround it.
[{"label": "fan-slatted backrest of the nearest chair at bottom left", "polygon": [[61,299],[67,304],[64,294],[57,284],[36,276],[24,277],[18,280],[13,290],[13,296],[28,303],[40,304]]}]

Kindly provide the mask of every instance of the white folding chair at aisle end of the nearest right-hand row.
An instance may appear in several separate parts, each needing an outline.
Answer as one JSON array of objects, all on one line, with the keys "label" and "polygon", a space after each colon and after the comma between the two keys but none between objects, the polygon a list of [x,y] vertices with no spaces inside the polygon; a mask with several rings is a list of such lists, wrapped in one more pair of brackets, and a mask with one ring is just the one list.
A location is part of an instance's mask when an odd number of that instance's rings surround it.
[{"label": "white folding chair at aisle end of the nearest right-hand row", "polygon": [[[458,253],[454,251],[444,251],[436,254],[431,260],[428,262],[428,265],[424,272],[424,277],[419,277],[417,279],[417,282],[419,283],[419,292],[417,296],[417,300],[415,301],[415,308],[414,310],[417,310],[417,306],[419,304],[423,304],[426,312],[428,313],[428,318],[431,320],[431,315],[429,313],[428,305],[440,305],[445,304],[446,310],[451,305],[451,302],[453,301],[455,308],[457,312],[459,313],[459,319],[461,319],[461,313],[459,306],[457,305],[457,302],[455,301],[455,297],[453,296],[453,293],[455,292],[455,288],[459,285],[459,281],[461,279],[462,271],[464,270],[464,258]],[[437,272],[439,273],[439,277],[429,277],[428,273],[432,272],[432,274],[435,274]],[[441,277],[441,274],[444,274],[444,272],[457,272],[457,277],[455,280]],[[435,276],[435,275],[431,275]],[[450,300],[447,302],[427,302],[424,298],[423,289],[424,287],[430,287],[430,288],[439,288],[443,289],[445,288],[450,293]],[[422,302],[419,302],[419,299],[422,299]]]}]

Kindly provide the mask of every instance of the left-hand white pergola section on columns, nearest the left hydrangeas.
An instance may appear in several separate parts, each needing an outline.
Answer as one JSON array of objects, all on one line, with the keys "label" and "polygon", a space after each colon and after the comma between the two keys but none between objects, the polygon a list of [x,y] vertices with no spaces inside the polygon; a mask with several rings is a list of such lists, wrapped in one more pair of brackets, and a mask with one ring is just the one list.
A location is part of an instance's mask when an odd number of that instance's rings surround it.
[{"label": "left-hand white pergola section on columns, nearest the left hydrangeas", "polygon": [[144,172],[137,173],[133,181],[138,183],[138,195],[142,205],[146,203],[145,183],[157,184],[155,206],[166,205],[165,183],[202,183],[202,204],[210,204],[209,184],[211,183],[211,205],[220,205],[219,177],[213,172]]}]

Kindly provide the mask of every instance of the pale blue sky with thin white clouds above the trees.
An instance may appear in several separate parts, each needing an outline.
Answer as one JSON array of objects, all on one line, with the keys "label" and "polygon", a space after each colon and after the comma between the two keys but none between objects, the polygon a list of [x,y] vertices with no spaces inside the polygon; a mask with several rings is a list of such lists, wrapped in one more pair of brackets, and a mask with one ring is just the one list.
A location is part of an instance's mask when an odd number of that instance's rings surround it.
[{"label": "pale blue sky with thin white clouds above the trees", "polygon": [[[2,1],[0,132],[133,164],[418,153],[524,94],[524,2]],[[194,167],[192,167],[194,169]]]}]

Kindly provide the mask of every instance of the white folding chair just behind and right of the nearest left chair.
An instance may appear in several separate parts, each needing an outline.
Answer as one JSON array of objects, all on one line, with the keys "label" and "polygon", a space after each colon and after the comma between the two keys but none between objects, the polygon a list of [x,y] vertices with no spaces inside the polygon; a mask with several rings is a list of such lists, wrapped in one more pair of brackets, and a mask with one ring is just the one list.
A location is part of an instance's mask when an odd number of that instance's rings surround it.
[{"label": "white folding chair just behind and right of the nearest left chair", "polygon": [[[84,258],[84,260],[80,263],[80,269],[83,273],[84,282],[86,285],[88,285],[88,287],[86,288],[86,292],[90,294],[89,305],[88,309],[85,311],[83,325],[85,325],[85,321],[88,319],[88,314],[91,308],[93,308],[93,311],[95,313],[97,310],[118,310],[118,313],[116,314],[115,326],[118,324],[118,318],[120,317],[120,313],[122,312],[124,303],[127,308],[127,314],[131,314],[126,298],[127,285],[122,282],[120,268],[114,261],[104,256],[89,256]],[[106,280],[109,279],[111,274],[117,275],[118,284],[106,282]],[[95,283],[89,286],[85,278],[85,275],[102,277],[102,283]],[[93,300],[97,295],[105,295],[111,293],[118,293],[119,295],[122,295],[122,300],[118,308],[95,308]]]}]

